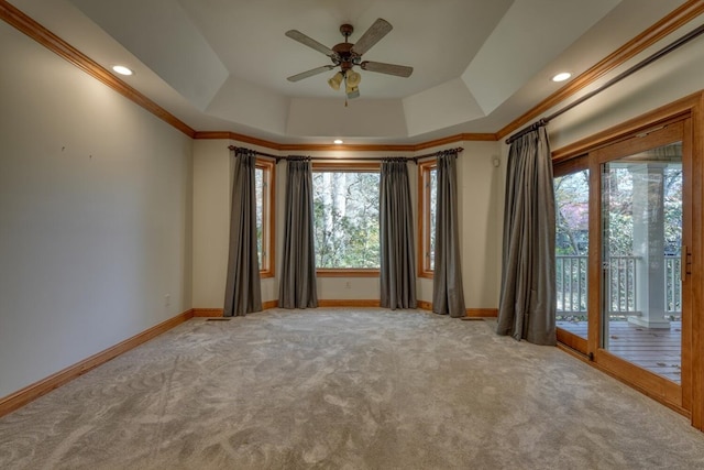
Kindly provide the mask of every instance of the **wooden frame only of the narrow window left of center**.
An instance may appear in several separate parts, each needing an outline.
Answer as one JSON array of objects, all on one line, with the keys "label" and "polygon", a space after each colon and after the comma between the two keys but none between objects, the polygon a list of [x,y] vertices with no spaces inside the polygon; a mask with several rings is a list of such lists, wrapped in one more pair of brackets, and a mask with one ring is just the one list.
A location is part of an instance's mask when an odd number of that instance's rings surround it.
[{"label": "wooden frame only of the narrow window left of center", "polygon": [[[263,171],[264,189],[262,190],[262,259],[260,260],[260,278],[274,277],[276,266],[275,252],[275,196],[276,162],[257,156],[255,168]],[[258,204],[258,200],[257,200]]]}]

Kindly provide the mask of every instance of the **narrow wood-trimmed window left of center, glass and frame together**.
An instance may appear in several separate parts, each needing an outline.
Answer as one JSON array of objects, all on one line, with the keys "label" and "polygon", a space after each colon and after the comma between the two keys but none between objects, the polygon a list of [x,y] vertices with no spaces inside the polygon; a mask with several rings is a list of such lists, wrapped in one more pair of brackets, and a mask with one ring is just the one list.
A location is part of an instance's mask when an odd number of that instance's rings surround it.
[{"label": "narrow wood-trimmed window left of center, glass and frame together", "polygon": [[256,194],[256,251],[260,276],[274,277],[274,175],[276,164],[256,159],[254,186]]}]

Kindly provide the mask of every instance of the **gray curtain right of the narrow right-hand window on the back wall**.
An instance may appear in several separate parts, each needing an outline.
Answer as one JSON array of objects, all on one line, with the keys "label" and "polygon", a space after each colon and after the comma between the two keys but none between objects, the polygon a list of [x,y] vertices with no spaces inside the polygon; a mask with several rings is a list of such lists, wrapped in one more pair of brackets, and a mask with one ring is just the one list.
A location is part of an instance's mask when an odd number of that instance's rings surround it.
[{"label": "gray curtain right of the narrow right-hand window on the back wall", "polygon": [[432,311],[451,317],[464,317],[466,311],[460,260],[457,157],[455,150],[438,153]]}]

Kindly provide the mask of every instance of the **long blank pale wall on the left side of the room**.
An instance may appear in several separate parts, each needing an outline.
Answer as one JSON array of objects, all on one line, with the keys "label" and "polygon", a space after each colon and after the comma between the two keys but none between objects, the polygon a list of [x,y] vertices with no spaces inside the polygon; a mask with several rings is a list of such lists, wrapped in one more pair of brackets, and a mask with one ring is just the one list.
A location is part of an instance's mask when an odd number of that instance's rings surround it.
[{"label": "long blank pale wall on the left side of the room", "polygon": [[193,184],[188,136],[3,22],[0,58],[1,397],[191,307]]}]

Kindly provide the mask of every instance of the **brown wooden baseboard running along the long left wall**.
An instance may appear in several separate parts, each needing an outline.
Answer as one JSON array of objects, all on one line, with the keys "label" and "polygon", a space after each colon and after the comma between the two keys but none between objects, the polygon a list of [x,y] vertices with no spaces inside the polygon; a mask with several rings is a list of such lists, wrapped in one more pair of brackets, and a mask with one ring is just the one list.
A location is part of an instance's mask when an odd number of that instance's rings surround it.
[{"label": "brown wooden baseboard running along the long left wall", "polygon": [[58,371],[55,374],[47,376],[46,379],[43,379],[38,382],[25,386],[22,390],[19,390],[18,392],[12,393],[11,395],[0,398],[0,417],[26,405],[28,403],[38,398],[42,395],[45,395],[52,390],[57,389],[67,382],[70,382],[77,376],[90,371],[91,369],[95,369],[98,365],[101,365],[109,360],[117,358],[123,352],[134,349],[138,346],[148,341],[150,339],[155,338],[165,331],[168,331],[175,326],[193,318],[193,309],[186,310],[183,314],[179,314],[174,318],[169,318],[166,321],[153,326],[152,328],[144,330],[141,334],[133,336],[132,338],[128,338],[124,341],[106,349],[105,351],[98,352],[97,354],[84,359],[82,361],[70,365],[62,371]]}]

